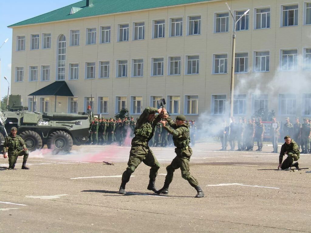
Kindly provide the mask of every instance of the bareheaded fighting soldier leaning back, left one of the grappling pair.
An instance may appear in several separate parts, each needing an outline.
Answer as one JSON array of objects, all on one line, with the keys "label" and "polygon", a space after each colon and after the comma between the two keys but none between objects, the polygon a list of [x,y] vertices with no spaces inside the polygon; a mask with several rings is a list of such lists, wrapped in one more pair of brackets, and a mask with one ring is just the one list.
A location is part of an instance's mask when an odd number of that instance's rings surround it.
[{"label": "bareheaded fighting soldier leaning back, left one of the grappling pair", "polygon": [[[151,149],[148,146],[149,140],[152,138],[156,124],[161,120],[162,109],[154,107],[146,107],[142,115],[137,120],[134,130],[135,137],[132,139],[132,147],[130,150],[130,158],[128,160],[128,167],[122,174],[122,182],[120,185],[119,193],[126,194],[125,185],[130,180],[130,176],[143,162],[147,166],[151,167],[149,172],[149,184],[147,189],[156,192],[155,182],[160,164]],[[159,115],[156,117],[156,113]]]}]

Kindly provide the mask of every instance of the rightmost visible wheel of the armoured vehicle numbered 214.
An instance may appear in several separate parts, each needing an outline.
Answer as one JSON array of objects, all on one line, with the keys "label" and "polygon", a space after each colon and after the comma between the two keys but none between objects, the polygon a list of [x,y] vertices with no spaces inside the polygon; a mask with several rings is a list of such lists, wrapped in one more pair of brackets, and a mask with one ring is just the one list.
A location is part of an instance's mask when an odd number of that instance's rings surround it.
[{"label": "rightmost visible wheel of the armoured vehicle numbered 214", "polygon": [[67,153],[72,148],[72,137],[65,131],[55,131],[49,135],[48,148],[53,150],[53,153]]}]

